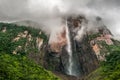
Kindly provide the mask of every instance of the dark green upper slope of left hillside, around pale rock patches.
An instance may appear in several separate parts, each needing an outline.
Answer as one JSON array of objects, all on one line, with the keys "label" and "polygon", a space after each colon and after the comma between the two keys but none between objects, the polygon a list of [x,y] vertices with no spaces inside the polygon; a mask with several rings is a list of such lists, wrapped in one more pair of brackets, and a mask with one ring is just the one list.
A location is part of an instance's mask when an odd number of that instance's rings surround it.
[{"label": "dark green upper slope of left hillside, around pale rock patches", "polygon": [[[6,32],[2,30],[6,28]],[[32,40],[28,41],[27,37],[20,37],[18,41],[13,41],[18,35],[24,34],[25,31],[28,31],[28,35],[32,36]],[[39,34],[41,32],[41,34]],[[24,53],[37,53],[36,47],[36,38],[41,38],[44,40],[44,43],[47,41],[47,36],[39,29],[34,29],[31,27],[17,26],[15,24],[4,24],[0,23],[0,51],[5,51],[6,53],[12,53],[13,50],[16,50],[18,46],[22,46],[22,49],[18,52],[21,54]],[[26,45],[28,44],[28,45]]]}]

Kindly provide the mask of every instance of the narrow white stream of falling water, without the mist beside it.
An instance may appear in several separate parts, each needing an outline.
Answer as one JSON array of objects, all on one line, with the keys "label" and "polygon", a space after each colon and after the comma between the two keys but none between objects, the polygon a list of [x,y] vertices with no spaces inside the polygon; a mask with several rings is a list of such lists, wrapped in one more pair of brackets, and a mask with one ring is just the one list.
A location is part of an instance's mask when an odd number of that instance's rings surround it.
[{"label": "narrow white stream of falling water, without the mist beside it", "polygon": [[66,21],[66,37],[67,37],[67,52],[69,55],[69,59],[68,59],[68,68],[67,68],[67,74],[68,75],[73,75],[72,73],[72,68],[73,68],[73,60],[72,60],[72,47],[71,47],[71,41],[70,41],[70,32],[69,32],[69,28],[67,25],[67,21]]}]

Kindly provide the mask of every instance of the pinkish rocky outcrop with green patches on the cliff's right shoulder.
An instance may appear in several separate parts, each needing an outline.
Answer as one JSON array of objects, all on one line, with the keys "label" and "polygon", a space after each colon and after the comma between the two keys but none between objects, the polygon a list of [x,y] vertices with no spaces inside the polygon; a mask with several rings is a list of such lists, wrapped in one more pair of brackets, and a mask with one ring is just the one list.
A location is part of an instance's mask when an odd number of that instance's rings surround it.
[{"label": "pinkish rocky outcrop with green patches on the cliff's right shoulder", "polygon": [[109,53],[109,51],[107,51],[103,43],[106,45],[114,45],[114,42],[112,41],[112,34],[106,27],[100,29],[98,28],[98,32],[94,34],[99,35],[91,39],[90,44],[95,52],[95,55],[97,56],[97,59],[99,61],[104,61],[105,56]]}]

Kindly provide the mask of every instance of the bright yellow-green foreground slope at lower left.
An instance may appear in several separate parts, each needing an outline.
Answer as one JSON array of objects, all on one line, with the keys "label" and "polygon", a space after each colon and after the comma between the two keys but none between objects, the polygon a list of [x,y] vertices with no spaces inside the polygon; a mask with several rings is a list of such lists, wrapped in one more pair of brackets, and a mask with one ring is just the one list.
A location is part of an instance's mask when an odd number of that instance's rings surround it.
[{"label": "bright yellow-green foreground slope at lower left", "polygon": [[25,56],[0,53],[0,80],[59,80]]}]

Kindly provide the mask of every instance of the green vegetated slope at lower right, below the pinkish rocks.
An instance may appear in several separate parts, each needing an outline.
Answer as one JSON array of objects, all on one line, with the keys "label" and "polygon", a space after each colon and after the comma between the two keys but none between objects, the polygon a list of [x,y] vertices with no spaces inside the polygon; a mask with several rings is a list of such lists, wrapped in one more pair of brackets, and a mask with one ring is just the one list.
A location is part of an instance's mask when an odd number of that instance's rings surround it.
[{"label": "green vegetated slope at lower right, below the pinkish rocks", "polygon": [[109,55],[101,62],[100,68],[92,72],[86,80],[120,80],[120,46],[104,44],[104,47],[109,50]]}]

